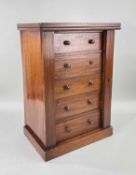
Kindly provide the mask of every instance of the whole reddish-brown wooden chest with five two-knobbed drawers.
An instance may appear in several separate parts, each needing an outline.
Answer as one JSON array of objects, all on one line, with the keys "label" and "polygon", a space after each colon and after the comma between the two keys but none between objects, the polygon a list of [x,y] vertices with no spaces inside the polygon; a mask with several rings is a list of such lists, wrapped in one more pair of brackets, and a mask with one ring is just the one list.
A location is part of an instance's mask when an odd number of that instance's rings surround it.
[{"label": "whole reddish-brown wooden chest with five two-knobbed drawers", "polygon": [[119,23],[18,24],[24,133],[44,160],[112,135],[114,31]]}]

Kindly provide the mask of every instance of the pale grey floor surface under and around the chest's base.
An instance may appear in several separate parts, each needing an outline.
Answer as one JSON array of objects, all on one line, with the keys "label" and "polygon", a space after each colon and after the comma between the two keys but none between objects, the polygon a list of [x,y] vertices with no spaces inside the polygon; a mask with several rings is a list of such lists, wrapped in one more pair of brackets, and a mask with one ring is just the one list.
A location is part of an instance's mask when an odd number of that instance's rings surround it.
[{"label": "pale grey floor surface under and around the chest's base", "polygon": [[21,112],[0,113],[0,175],[136,175],[136,115],[112,115],[114,135],[44,162],[25,138]]}]

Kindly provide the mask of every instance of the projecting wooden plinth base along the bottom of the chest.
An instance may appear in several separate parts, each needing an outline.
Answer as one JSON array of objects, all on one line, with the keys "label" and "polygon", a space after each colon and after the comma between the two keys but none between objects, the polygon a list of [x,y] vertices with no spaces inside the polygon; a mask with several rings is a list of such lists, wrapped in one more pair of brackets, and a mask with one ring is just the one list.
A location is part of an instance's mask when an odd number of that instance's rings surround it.
[{"label": "projecting wooden plinth base along the bottom of the chest", "polygon": [[57,143],[57,145],[50,149],[44,149],[41,146],[41,143],[35,139],[33,133],[31,133],[28,128],[24,127],[24,134],[31,142],[31,144],[35,147],[36,151],[41,155],[44,160],[51,160],[55,157],[68,153],[70,151],[81,148],[90,143],[96,142],[98,140],[104,139],[108,136],[111,136],[113,133],[112,127],[109,128],[100,128],[91,132],[87,132],[85,134],[76,136],[72,139],[68,139],[66,141],[62,141]]}]

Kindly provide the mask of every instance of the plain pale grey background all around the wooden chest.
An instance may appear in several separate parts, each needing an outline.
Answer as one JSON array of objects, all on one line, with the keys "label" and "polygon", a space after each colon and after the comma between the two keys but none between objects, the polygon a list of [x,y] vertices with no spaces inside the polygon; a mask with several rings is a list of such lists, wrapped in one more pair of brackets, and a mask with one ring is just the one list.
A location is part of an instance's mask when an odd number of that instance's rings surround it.
[{"label": "plain pale grey background all around the wooden chest", "polygon": [[[136,175],[136,1],[0,0],[0,175]],[[121,22],[116,31],[114,135],[44,162],[25,138],[23,22]]]}]

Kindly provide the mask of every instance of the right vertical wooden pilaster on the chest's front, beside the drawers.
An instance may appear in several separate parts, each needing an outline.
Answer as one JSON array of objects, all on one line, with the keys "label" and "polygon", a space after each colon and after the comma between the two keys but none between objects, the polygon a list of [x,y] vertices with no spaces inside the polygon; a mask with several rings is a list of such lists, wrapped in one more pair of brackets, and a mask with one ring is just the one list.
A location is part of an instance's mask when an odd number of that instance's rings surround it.
[{"label": "right vertical wooden pilaster on the chest's front, beside the drawers", "polygon": [[102,127],[110,126],[111,121],[111,97],[112,97],[112,71],[114,31],[104,32],[103,52],[103,80],[102,80]]}]

